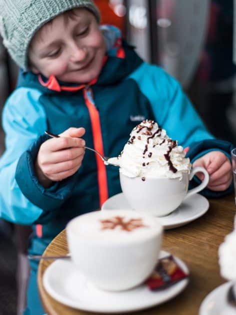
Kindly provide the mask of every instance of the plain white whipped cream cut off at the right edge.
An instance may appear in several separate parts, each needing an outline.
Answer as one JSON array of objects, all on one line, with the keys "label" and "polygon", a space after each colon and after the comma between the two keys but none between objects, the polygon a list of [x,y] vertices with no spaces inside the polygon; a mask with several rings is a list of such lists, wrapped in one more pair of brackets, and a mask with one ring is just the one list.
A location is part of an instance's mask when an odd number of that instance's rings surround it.
[{"label": "plain white whipped cream cut off at the right edge", "polygon": [[220,274],[227,280],[236,281],[236,230],[225,236],[219,245]]}]

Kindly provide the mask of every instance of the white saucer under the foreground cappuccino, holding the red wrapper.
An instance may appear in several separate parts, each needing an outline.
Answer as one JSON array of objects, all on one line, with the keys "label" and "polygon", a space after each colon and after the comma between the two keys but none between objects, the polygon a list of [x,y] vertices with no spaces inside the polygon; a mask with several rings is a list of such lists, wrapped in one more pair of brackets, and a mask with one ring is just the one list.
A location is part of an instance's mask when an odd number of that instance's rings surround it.
[{"label": "white saucer under the foreground cappuccino, holding the red wrapper", "polygon": [[[169,253],[161,251],[160,257],[166,255]],[[188,273],[184,262],[177,257],[174,259]],[[62,259],[52,262],[43,274],[44,288],[55,300],[95,313],[122,313],[158,305],[176,296],[187,283],[188,278],[185,278],[160,291],[151,291],[147,285],[142,284],[126,291],[108,292],[87,282],[70,260]]]}]

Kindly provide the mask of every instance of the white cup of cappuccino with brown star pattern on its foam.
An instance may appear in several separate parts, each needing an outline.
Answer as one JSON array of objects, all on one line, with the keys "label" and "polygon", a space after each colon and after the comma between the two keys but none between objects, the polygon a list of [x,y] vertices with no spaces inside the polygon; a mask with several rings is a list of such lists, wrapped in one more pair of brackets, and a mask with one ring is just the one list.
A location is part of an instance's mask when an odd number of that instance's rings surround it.
[{"label": "white cup of cappuccino with brown star pattern on its foam", "polygon": [[160,252],[162,226],[130,210],[94,211],[66,226],[73,263],[97,288],[120,291],[142,283]]}]

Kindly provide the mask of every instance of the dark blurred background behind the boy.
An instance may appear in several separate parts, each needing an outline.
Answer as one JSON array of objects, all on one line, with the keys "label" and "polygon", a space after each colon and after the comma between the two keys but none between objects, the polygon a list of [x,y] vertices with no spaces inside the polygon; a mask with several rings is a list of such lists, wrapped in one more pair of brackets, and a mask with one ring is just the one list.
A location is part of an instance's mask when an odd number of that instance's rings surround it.
[{"label": "dark blurred background behind the boy", "polygon": [[[59,0],[58,0],[59,1]],[[163,67],[189,96],[209,131],[236,144],[233,0],[96,0],[102,24],[121,29],[147,62]],[[235,41],[234,41],[235,42]],[[235,59],[235,58],[234,58]],[[0,113],[17,67],[0,39]],[[4,134],[0,125],[0,155]],[[0,220],[0,315],[25,303],[30,227]]]}]

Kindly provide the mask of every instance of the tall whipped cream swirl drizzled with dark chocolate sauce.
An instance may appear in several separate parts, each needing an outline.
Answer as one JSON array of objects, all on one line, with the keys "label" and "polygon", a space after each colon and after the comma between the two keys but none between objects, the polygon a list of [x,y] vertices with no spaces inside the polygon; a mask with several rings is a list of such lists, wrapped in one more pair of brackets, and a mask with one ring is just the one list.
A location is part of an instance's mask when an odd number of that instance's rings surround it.
[{"label": "tall whipped cream swirl drizzled with dark chocolate sauce", "polygon": [[109,163],[119,165],[119,171],[128,177],[182,178],[190,172],[191,164],[176,140],[152,120],[143,120],[130,133],[123,151]]}]

